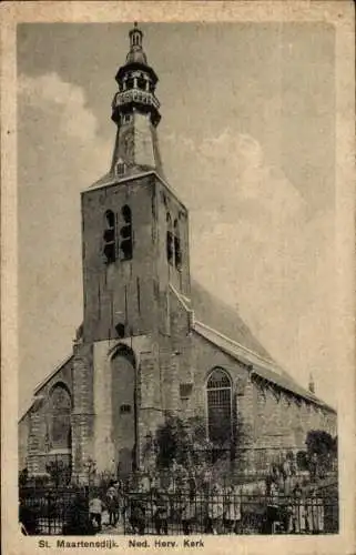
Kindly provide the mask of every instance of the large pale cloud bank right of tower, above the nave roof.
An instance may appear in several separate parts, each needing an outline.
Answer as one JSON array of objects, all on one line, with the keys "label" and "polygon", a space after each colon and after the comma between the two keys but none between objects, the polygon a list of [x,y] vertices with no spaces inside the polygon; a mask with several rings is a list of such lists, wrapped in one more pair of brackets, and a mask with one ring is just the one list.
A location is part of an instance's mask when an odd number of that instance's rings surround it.
[{"label": "large pale cloud bank right of tower, above the nave roof", "polygon": [[224,130],[194,149],[171,137],[164,148],[169,163],[174,155],[175,189],[193,206],[196,278],[238,305],[302,383],[313,371],[318,393],[333,400],[334,212],[311,216],[299,192],[251,135]]}]

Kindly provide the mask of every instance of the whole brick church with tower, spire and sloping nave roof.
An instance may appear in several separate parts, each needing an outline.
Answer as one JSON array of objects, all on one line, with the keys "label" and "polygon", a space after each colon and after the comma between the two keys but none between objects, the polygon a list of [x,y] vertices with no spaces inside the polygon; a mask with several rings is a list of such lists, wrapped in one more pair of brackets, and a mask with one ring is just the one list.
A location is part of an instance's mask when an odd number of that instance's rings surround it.
[{"label": "whole brick church with tower, spire and sloping nave roof", "polygon": [[224,450],[238,433],[235,456],[252,470],[305,448],[311,430],[336,435],[313,384],[298,385],[191,276],[189,211],[162,170],[159,79],[142,39],[135,24],[115,77],[110,171],[81,193],[83,323],[19,422],[20,470],[32,476],[53,460],[83,480],[89,462],[131,472],[167,414],[201,418]]}]

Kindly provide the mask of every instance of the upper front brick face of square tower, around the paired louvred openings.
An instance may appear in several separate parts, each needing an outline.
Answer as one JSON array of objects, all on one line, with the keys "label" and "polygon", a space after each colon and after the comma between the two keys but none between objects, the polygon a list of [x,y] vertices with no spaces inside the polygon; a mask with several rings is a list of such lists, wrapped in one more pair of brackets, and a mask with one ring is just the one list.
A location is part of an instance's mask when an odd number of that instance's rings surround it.
[{"label": "upper front brick face of square tower, around the paired louvred openings", "polygon": [[[156,320],[153,299],[154,242],[152,238],[151,178],[88,190],[82,194],[84,341],[118,337],[115,325],[126,324],[126,335],[149,333]],[[132,214],[133,256],[120,260],[121,209]],[[105,212],[115,216],[116,260],[103,254]]]}]

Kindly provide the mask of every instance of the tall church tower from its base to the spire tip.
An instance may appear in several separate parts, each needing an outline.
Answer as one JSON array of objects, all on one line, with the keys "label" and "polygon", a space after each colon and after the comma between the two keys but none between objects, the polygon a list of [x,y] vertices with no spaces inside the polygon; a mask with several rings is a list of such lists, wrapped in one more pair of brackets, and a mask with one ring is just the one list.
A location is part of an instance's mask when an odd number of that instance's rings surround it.
[{"label": "tall church tower from its base to the spire tip", "polygon": [[108,470],[109,456],[126,472],[163,418],[170,285],[190,295],[187,210],[163,178],[157,75],[136,24],[129,37],[111,168],[81,199],[84,320],[73,372],[74,461],[77,444],[79,464],[91,456]]}]

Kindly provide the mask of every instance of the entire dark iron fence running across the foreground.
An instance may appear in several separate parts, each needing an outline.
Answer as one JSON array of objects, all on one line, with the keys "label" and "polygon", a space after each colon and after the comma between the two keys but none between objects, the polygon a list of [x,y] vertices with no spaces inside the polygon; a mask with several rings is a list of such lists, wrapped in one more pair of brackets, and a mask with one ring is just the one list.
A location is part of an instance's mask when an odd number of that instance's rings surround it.
[{"label": "entire dark iron fence running across the foreground", "polygon": [[[90,513],[90,500],[103,512]],[[111,524],[109,524],[111,513]],[[116,506],[105,506],[98,488],[22,488],[20,522],[28,534],[335,534],[338,532],[337,484],[291,495],[212,491],[192,493],[126,491]]]}]

